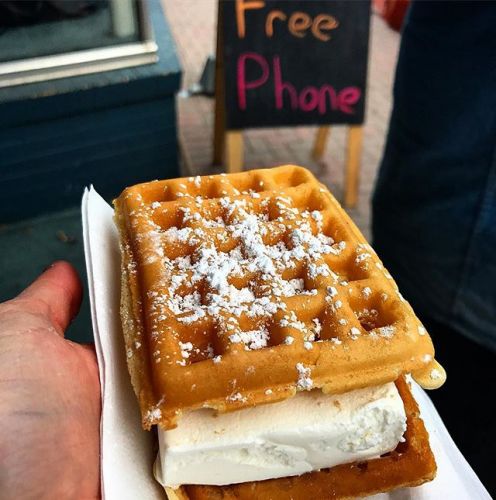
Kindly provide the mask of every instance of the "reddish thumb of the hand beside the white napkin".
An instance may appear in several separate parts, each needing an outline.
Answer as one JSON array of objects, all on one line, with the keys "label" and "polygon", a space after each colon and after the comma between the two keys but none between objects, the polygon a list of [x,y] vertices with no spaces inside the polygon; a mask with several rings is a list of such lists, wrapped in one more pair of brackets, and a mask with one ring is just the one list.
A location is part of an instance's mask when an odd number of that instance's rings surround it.
[{"label": "reddish thumb of the hand beside the white napkin", "polygon": [[49,315],[53,326],[63,335],[79,311],[81,281],[77,271],[68,262],[55,262],[18,299],[28,301],[28,307],[35,310],[39,310],[40,305],[44,306],[44,312]]}]

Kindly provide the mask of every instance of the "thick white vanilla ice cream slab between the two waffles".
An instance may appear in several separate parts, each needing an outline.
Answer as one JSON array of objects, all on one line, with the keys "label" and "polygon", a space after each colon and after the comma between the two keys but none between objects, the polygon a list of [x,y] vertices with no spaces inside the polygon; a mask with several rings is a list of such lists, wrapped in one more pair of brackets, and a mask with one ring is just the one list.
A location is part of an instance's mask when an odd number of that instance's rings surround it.
[{"label": "thick white vanilla ice cream slab between the two waffles", "polygon": [[279,403],[183,415],[159,428],[155,476],[163,486],[224,485],[295,476],[396,448],[406,415],[393,383],[330,396],[300,392]]}]

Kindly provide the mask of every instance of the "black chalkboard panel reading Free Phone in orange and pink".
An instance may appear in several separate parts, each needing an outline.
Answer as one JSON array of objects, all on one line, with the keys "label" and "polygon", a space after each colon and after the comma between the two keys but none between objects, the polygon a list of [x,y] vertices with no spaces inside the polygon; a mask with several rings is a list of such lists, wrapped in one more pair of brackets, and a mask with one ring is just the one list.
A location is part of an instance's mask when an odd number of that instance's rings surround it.
[{"label": "black chalkboard panel reading Free Phone in orange and pink", "polygon": [[360,124],[370,3],[221,0],[227,129]]}]

